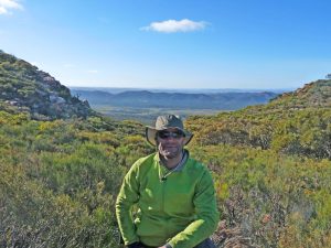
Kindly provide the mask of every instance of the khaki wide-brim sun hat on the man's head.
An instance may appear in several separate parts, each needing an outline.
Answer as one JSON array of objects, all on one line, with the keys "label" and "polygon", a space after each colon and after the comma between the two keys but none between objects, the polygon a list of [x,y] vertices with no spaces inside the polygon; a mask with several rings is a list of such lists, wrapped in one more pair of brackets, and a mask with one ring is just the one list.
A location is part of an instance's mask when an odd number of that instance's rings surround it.
[{"label": "khaki wide-brim sun hat on the man's head", "polygon": [[193,134],[184,129],[183,121],[179,116],[167,115],[167,116],[159,116],[157,118],[156,127],[150,127],[150,126],[146,127],[147,141],[153,145],[157,145],[157,141],[156,141],[157,132],[170,128],[179,129],[185,134],[184,145],[186,145],[193,138]]}]

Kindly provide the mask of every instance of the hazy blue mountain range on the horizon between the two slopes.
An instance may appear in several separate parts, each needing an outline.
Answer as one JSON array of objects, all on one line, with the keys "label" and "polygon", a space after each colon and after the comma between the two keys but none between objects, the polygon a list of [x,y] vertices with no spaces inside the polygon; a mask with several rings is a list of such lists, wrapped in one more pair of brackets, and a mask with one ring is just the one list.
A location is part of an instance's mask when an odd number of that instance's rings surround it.
[{"label": "hazy blue mountain range on the horizon between the two slopes", "polygon": [[266,104],[278,94],[264,93],[154,93],[132,90],[110,94],[103,90],[73,89],[73,94],[87,99],[92,106],[178,108],[235,110],[250,105]]}]

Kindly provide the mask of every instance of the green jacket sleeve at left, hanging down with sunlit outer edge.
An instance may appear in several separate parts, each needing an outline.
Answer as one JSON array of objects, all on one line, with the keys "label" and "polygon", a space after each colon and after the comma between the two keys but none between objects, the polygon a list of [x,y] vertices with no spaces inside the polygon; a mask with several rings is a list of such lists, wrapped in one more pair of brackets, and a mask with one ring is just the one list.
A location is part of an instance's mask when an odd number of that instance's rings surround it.
[{"label": "green jacket sleeve at left, hanging down with sunlit outer edge", "polygon": [[139,200],[138,162],[126,174],[116,200],[116,217],[125,245],[139,241],[131,208]]}]

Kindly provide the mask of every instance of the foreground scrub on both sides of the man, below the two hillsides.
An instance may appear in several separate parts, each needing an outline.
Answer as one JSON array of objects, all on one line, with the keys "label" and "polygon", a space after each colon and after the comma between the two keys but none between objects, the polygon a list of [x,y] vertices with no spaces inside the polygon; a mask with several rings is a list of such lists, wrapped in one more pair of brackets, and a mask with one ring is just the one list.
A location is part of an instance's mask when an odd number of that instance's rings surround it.
[{"label": "foreground scrub on both sides of the man, below the two hillsides", "polygon": [[[0,114],[1,247],[119,247],[114,201],[121,179],[153,151],[142,126]],[[329,160],[228,144],[190,150],[213,172],[218,247],[231,230],[250,247],[327,247]]]}]

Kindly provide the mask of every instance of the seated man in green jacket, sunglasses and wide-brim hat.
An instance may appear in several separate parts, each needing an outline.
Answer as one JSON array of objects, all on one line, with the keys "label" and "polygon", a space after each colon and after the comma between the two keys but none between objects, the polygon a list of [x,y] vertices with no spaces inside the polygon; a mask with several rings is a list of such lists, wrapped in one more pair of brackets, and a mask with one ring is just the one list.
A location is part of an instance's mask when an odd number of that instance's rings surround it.
[{"label": "seated man in green jacket, sunglasses and wide-brim hat", "polygon": [[128,248],[215,247],[209,239],[218,222],[213,180],[183,149],[192,137],[174,115],[159,116],[156,127],[146,128],[146,138],[158,152],[131,166],[116,201]]}]

